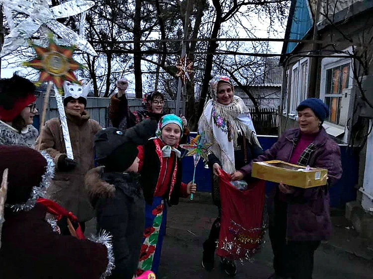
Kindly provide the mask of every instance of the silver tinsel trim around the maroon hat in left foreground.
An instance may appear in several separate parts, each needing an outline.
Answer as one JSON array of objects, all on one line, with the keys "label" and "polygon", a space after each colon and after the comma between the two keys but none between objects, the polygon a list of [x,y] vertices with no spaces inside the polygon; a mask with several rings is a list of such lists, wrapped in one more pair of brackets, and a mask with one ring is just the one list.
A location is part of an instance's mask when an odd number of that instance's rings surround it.
[{"label": "silver tinsel trim around the maroon hat in left foreground", "polygon": [[47,189],[51,185],[51,180],[54,177],[55,164],[52,157],[48,155],[47,152],[41,151],[40,153],[47,160],[46,172],[43,174],[40,184],[32,187],[30,198],[25,203],[15,205],[5,204],[6,208],[10,208],[14,212],[29,211],[35,207],[37,199],[45,197]]}]

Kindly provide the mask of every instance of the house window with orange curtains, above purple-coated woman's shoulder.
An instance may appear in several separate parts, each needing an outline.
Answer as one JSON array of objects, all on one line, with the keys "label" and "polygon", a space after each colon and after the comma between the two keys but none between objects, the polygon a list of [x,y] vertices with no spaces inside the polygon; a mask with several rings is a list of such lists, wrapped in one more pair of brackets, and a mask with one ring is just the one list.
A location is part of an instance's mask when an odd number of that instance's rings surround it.
[{"label": "house window with orange curtains, above purple-coated woman's shoulder", "polygon": [[329,107],[328,122],[339,124],[342,91],[349,87],[350,63],[326,70],[325,103]]}]

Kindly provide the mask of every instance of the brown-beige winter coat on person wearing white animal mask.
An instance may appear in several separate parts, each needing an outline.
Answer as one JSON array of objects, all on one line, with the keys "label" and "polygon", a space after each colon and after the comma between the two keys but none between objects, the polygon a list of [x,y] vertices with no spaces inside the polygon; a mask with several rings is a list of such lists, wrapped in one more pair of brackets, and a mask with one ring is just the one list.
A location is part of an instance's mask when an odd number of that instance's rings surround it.
[{"label": "brown-beige winter coat on person wearing white animal mask", "polygon": [[93,137],[101,130],[98,122],[90,119],[87,111],[82,115],[65,108],[68,119],[74,161],[77,163],[71,171],[59,171],[58,158],[66,154],[65,141],[59,118],[45,123],[40,133],[41,150],[46,150],[56,163],[56,174],[47,192],[47,198],[59,203],[73,212],[79,221],[88,221],[94,211],[84,186],[84,177],[94,167]]}]

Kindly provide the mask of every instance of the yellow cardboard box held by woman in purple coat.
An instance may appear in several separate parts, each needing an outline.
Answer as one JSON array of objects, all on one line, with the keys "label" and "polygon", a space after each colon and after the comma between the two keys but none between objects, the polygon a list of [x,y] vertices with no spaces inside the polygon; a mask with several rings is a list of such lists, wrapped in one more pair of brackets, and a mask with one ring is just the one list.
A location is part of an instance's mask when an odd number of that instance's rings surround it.
[{"label": "yellow cardboard box held by woman in purple coat", "polygon": [[327,184],[328,170],[307,168],[280,160],[252,164],[252,177],[285,185],[311,188]]}]

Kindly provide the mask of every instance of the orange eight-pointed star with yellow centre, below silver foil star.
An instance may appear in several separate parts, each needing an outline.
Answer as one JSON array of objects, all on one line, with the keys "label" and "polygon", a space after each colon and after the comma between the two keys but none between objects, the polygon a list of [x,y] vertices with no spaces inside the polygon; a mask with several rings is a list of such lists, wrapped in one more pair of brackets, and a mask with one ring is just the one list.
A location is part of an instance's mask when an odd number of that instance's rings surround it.
[{"label": "orange eight-pointed star with yellow centre, below silver foil star", "polygon": [[83,69],[84,66],[73,60],[75,47],[57,46],[53,38],[49,38],[49,46],[43,48],[30,43],[37,57],[31,61],[23,62],[22,66],[31,67],[40,71],[37,84],[44,81],[53,81],[60,94],[63,94],[65,80],[78,83],[74,70]]}]

